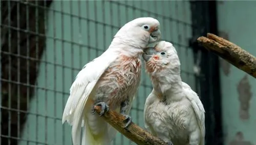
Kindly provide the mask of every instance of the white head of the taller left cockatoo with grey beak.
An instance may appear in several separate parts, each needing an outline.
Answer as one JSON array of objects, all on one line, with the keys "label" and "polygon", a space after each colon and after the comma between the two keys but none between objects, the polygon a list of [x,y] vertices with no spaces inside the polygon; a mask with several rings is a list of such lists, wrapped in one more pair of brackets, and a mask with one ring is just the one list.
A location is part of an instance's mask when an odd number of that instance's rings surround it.
[{"label": "white head of the taller left cockatoo with grey beak", "polygon": [[115,35],[118,42],[144,49],[161,37],[160,23],[152,17],[140,17],[124,24]]}]

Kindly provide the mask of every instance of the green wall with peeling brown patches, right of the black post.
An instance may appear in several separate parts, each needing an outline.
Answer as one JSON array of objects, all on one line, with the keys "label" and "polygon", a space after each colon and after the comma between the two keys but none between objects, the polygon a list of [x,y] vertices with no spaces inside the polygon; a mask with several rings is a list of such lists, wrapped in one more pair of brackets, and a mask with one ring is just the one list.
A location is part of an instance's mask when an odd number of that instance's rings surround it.
[{"label": "green wall with peeling brown patches, right of the black post", "polygon": [[[255,10],[255,1],[218,2],[219,35],[228,38],[254,56]],[[256,144],[256,79],[223,60],[220,73],[223,141],[225,144]]]}]

